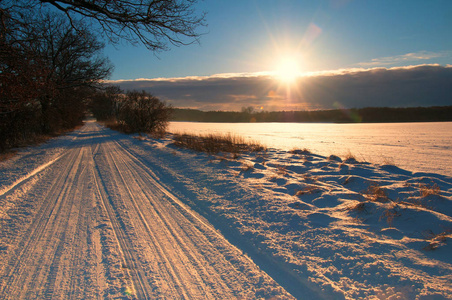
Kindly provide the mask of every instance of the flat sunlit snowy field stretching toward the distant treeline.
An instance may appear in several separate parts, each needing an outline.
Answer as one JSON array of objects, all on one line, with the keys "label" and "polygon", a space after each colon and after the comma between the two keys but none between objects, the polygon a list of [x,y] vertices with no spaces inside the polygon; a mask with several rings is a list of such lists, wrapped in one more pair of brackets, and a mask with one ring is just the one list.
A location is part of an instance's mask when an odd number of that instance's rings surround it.
[{"label": "flat sunlit snowy field stretching toward the distant treeline", "polygon": [[[452,122],[325,124],[325,123],[198,123],[171,122],[169,131],[233,133],[268,147],[358,160],[391,162],[414,172],[452,176]],[[441,159],[438,159],[441,157]]]}]

